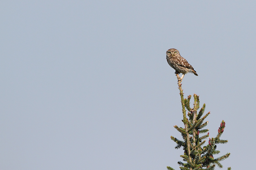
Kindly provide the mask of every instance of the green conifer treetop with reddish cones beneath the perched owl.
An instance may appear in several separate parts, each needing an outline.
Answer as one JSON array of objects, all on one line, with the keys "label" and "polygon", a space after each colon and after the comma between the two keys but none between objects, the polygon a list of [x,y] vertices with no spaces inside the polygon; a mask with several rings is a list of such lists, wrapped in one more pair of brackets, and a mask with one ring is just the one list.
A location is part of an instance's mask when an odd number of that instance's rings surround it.
[{"label": "green conifer treetop with reddish cones beneath the perched owl", "polygon": [[[199,96],[196,94],[194,94],[193,108],[190,108],[191,95],[189,95],[187,99],[184,99],[184,93],[181,87],[182,84],[181,81],[179,80],[180,77],[178,74],[176,74],[176,76],[178,79],[178,86],[182,103],[182,122],[184,123],[185,127],[178,127],[177,125],[174,126],[174,128],[181,133],[183,140],[179,140],[173,136],[171,136],[171,139],[177,143],[175,149],[183,148],[184,150],[184,154],[180,155],[180,157],[183,158],[184,162],[178,161],[180,169],[212,170],[215,169],[216,165],[222,168],[223,166],[221,165],[220,161],[227,159],[230,153],[227,153],[218,158],[216,158],[216,156],[214,158],[214,155],[220,153],[219,150],[216,150],[217,144],[228,142],[228,140],[220,139],[220,136],[222,135],[225,128],[225,122],[224,120],[222,120],[222,122],[220,123],[220,127],[218,129],[217,136],[215,138],[209,138],[208,144],[206,146],[203,146],[206,142],[206,140],[204,139],[209,137],[209,129],[203,129],[205,126],[207,126],[208,121],[204,122],[204,120],[210,114],[210,112],[203,116],[205,111],[205,104],[203,104],[202,108],[199,110],[199,112],[197,112],[200,107],[200,101]],[[186,113],[186,111],[188,111],[188,113]],[[207,133],[207,135],[199,135],[204,133]],[[172,167],[169,166],[167,166],[167,169],[174,170]],[[231,167],[228,167],[228,170],[231,170]]]}]

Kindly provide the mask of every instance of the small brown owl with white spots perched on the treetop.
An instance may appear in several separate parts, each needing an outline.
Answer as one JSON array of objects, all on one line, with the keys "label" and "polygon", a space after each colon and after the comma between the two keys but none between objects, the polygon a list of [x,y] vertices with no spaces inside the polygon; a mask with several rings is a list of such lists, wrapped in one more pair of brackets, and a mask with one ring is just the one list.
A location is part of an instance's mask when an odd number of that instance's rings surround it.
[{"label": "small brown owl with white spots perched on the treetop", "polygon": [[[166,51],[166,60],[168,64],[174,68],[178,73],[182,73],[182,76],[180,77],[180,81],[182,81],[185,74],[188,72],[194,73],[197,75],[194,68],[187,62],[185,58],[180,56],[179,51],[171,48]],[[198,75],[197,75],[198,76]]]}]

